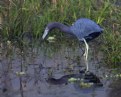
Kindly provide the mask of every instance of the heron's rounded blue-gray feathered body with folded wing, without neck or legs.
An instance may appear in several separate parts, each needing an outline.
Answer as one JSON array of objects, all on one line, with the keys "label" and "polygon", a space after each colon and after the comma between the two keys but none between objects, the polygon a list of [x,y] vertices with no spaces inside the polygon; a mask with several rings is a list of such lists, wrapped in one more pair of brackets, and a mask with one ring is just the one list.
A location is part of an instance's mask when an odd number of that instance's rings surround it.
[{"label": "heron's rounded blue-gray feathered body with folded wing, without neck or legs", "polygon": [[85,38],[86,41],[96,38],[103,31],[98,24],[87,18],[78,19],[70,29],[79,40]]}]

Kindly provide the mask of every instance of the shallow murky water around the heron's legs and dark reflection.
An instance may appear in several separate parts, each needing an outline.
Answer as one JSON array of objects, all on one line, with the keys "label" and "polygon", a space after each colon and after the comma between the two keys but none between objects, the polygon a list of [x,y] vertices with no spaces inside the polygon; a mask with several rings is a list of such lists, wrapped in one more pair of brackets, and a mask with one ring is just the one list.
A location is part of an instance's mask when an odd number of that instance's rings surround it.
[{"label": "shallow murky water around the heron's legs and dark reflection", "polygon": [[102,53],[92,44],[89,69],[100,78],[103,87],[81,88],[76,83],[54,85],[46,81],[50,77],[78,74],[85,68],[83,50],[78,44],[48,43],[21,50],[1,43],[0,97],[110,97],[110,80],[104,77],[108,70],[101,63]]}]

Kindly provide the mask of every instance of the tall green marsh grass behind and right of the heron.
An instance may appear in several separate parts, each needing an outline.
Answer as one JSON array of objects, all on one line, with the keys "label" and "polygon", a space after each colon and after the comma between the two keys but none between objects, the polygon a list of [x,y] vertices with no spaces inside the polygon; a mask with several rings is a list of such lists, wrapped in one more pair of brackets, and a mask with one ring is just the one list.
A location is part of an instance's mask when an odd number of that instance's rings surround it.
[{"label": "tall green marsh grass behind and right of the heron", "polygon": [[[5,0],[6,1],[6,0]],[[1,36],[4,41],[22,40],[24,33],[32,34],[34,40],[41,38],[47,23],[52,21],[71,25],[80,17],[96,21],[104,33],[101,50],[105,63],[121,64],[121,6],[116,0],[8,0],[0,1],[2,17]],[[63,33],[51,35],[63,36]],[[28,36],[29,37],[29,36]]]}]

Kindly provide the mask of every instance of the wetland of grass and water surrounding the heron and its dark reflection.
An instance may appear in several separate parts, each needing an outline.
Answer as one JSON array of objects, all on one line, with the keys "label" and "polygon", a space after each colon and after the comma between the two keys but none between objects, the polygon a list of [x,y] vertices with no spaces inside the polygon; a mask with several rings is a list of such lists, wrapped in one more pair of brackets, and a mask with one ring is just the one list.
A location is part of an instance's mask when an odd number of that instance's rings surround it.
[{"label": "wetland of grass and water surrounding the heron and its dark reflection", "polygon": [[[103,34],[89,43],[90,69],[101,78],[104,89],[86,90],[87,94],[72,84],[46,82],[48,77],[79,72],[84,66],[83,43],[80,49],[76,39],[57,29],[41,43],[49,22],[71,25],[81,17],[90,18],[104,28]],[[113,75],[120,76],[121,68],[120,18],[120,0],[1,0],[1,97],[119,97],[120,77]]]}]

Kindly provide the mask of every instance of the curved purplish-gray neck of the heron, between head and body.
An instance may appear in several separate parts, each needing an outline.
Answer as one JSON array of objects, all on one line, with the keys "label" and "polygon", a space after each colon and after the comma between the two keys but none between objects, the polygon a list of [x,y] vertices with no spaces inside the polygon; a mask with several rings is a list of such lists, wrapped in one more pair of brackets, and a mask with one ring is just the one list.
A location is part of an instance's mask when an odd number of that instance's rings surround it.
[{"label": "curved purplish-gray neck of the heron, between head and body", "polygon": [[47,28],[49,29],[49,31],[51,31],[54,28],[57,28],[57,29],[59,29],[62,32],[66,32],[68,34],[73,34],[69,26],[66,26],[66,25],[64,25],[62,23],[59,23],[59,22],[49,23],[47,25]]}]

